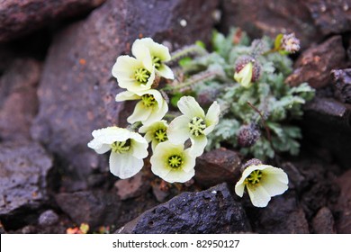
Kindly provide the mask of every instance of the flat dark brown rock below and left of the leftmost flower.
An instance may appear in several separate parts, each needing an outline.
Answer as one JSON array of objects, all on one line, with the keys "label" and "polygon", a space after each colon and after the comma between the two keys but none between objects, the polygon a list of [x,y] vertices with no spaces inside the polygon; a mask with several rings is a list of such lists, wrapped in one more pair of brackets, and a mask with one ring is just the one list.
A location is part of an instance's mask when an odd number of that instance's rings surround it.
[{"label": "flat dark brown rock below and left of the leftmost flower", "polygon": [[77,225],[87,223],[91,229],[112,225],[119,218],[121,202],[115,192],[58,193],[55,200]]}]

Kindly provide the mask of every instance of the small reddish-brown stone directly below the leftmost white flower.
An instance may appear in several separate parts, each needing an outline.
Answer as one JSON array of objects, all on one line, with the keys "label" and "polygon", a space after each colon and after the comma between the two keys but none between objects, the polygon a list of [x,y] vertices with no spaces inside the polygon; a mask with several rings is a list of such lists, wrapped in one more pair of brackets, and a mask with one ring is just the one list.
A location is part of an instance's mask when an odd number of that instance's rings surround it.
[{"label": "small reddish-brown stone directly below the leftmost white flower", "polygon": [[122,201],[138,197],[146,193],[151,187],[150,181],[142,172],[139,172],[130,178],[118,180],[114,186],[117,188],[117,194]]}]

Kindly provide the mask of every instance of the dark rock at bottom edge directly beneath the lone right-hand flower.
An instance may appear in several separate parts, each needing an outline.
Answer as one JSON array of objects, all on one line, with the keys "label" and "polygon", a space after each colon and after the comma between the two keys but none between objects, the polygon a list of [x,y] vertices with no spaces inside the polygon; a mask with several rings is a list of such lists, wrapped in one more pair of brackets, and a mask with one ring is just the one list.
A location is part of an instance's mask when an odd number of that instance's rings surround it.
[{"label": "dark rock at bottom edge directly beneath the lone right-hand flower", "polygon": [[254,232],[269,234],[307,234],[309,224],[293,191],[275,196],[266,208],[247,210]]}]

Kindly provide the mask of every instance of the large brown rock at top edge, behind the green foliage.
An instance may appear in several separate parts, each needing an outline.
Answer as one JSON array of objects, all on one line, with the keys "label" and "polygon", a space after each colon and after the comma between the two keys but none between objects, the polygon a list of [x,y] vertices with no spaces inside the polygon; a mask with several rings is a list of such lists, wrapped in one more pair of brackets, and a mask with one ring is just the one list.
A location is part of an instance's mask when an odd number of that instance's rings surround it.
[{"label": "large brown rock at top edge, behind the green foliage", "polygon": [[306,47],[318,38],[318,30],[304,3],[305,0],[222,0],[221,25],[225,31],[231,26],[241,27],[253,38],[295,32],[302,47]]}]

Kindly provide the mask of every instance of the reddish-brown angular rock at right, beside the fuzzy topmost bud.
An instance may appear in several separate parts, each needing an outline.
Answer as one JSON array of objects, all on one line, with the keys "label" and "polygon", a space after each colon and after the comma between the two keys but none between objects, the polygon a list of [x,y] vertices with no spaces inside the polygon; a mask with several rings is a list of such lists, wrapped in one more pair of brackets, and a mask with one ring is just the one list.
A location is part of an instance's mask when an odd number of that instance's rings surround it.
[{"label": "reddish-brown angular rock at right, beside the fuzzy topmost bud", "polygon": [[330,71],[347,66],[347,53],[341,36],[331,37],[320,45],[312,45],[303,51],[294,64],[293,74],[288,76],[289,85],[308,82],[314,88],[322,88],[330,83]]}]

